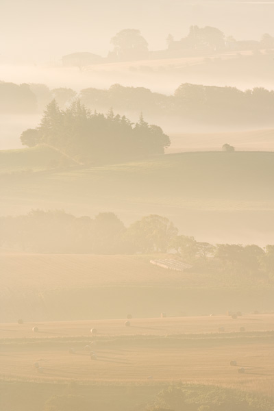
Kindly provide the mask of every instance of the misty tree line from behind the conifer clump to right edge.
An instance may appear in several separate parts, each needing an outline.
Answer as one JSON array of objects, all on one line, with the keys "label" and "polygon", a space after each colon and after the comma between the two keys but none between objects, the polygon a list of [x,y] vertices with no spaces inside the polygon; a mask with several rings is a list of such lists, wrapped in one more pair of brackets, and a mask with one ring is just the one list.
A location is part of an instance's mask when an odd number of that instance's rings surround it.
[{"label": "misty tree line from behind the conifer clump to right edge", "polygon": [[236,87],[184,83],[173,95],[162,95],[147,88],[114,84],[108,90],[86,88],[79,97],[89,108],[103,109],[107,105],[115,110],[141,110],[146,116],[177,117],[186,122],[273,123],[274,91],[262,87],[242,91]]}]

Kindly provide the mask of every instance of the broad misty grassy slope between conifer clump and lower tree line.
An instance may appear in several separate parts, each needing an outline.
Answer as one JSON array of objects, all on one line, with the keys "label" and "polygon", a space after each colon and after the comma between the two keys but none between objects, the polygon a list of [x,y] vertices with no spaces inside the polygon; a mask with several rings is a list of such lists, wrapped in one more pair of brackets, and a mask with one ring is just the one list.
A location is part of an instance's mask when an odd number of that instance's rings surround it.
[{"label": "broad misty grassy slope between conifer clump and lower tree line", "polygon": [[[19,163],[17,156],[33,152],[16,150],[14,157],[8,152],[10,170]],[[35,155],[28,166],[35,170]],[[90,216],[113,211],[126,224],[145,214],[162,214],[199,240],[265,245],[274,233],[273,176],[272,152],[177,153],[96,168],[8,175],[1,179],[1,214],[32,208]]]}]

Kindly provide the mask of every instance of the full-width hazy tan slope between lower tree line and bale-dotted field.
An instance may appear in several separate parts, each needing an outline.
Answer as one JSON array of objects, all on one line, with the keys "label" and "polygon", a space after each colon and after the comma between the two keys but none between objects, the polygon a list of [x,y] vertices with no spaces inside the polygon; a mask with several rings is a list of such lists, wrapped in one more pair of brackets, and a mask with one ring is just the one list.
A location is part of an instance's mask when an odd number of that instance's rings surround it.
[{"label": "full-width hazy tan slope between lower tree line and bale-dotted field", "polygon": [[274,310],[271,284],[169,271],[151,258],[0,253],[0,323]]}]

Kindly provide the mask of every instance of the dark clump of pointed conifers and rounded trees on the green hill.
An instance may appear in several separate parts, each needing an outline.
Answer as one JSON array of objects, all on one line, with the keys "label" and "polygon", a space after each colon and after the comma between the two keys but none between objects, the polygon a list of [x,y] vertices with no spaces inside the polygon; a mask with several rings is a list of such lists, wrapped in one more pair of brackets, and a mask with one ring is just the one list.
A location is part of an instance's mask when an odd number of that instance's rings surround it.
[{"label": "dark clump of pointed conifers and rounded trees on the green hill", "polygon": [[125,116],[114,115],[112,109],[107,114],[92,114],[79,100],[66,110],[51,101],[40,125],[25,130],[21,142],[28,147],[49,145],[92,164],[163,154],[170,145],[169,136],[157,125],[146,123],[142,114],[134,124]]}]

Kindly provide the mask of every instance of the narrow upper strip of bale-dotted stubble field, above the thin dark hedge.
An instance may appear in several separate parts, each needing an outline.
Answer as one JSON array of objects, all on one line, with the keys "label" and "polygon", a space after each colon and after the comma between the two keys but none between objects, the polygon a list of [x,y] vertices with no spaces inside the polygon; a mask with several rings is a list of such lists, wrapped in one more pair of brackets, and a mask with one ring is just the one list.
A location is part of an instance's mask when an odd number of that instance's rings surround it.
[{"label": "narrow upper strip of bale-dotted stubble field, above the thin dark hedge", "polygon": [[[160,317],[160,313],[159,313]],[[274,314],[248,314],[233,320],[230,316],[189,316],[159,319],[132,319],[125,327],[125,319],[92,321],[55,321],[51,323],[8,323],[0,325],[0,338],[41,337],[90,337],[90,329],[96,328],[98,336],[175,336],[181,334],[218,333],[224,327],[226,333],[274,331]],[[34,334],[32,328],[39,332]],[[241,333],[242,334],[242,333]],[[244,334],[245,335],[245,334]],[[92,337],[90,337],[92,338]]]}]

